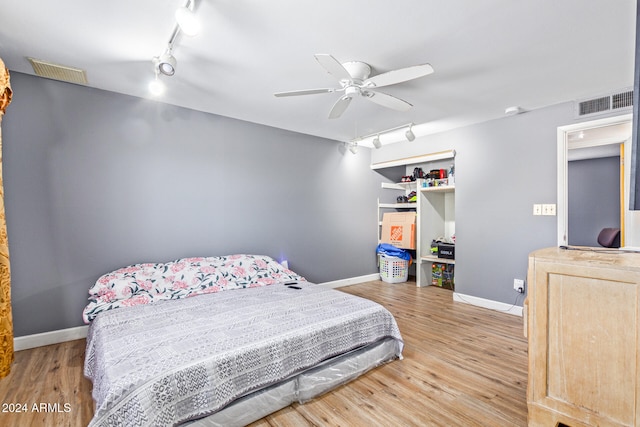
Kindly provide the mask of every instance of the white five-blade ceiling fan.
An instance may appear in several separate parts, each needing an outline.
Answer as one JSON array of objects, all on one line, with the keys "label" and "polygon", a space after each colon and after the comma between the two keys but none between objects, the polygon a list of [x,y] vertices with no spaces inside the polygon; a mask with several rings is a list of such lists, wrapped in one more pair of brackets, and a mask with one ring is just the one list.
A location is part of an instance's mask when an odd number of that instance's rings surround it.
[{"label": "white five-blade ceiling fan", "polygon": [[294,90],[289,92],[278,92],[274,95],[282,97],[344,92],[344,95],[342,95],[338,101],[333,104],[333,108],[331,108],[331,111],[329,112],[330,119],[337,119],[340,117],[349,106],[349,103],[351,103],[351,100],[358,95],[363,96],[378,105],[382,105],[383,107],[398,111],[407,111],[413,105],[400,98],[396,98],[395,96],[378,92],[377,89],[379,87],[391,86],[433,73],[433,67],[431,65],[421,64],[369,77],[369,74],[371,74],[371,67],[369,64],[364,62],[351,61],[341,64],[337,59],[328,54],[316,54],[314,56],[318,63],[327,70],[329,74],[338,79],[340,82],[339,88]]}]

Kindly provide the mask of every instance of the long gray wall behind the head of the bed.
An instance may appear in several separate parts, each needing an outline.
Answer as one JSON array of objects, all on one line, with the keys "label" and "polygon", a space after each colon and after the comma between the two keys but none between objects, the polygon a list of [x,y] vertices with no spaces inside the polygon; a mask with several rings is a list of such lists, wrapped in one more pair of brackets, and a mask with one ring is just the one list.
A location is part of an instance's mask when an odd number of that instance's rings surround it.
[{"label": "long gray wall behind the head of the bed", "polygon": [[366,275],[384,178],[368,150],[12,74],[3,120],[16,336],[82,324],[138,262],[257,253],[313,282]]}]

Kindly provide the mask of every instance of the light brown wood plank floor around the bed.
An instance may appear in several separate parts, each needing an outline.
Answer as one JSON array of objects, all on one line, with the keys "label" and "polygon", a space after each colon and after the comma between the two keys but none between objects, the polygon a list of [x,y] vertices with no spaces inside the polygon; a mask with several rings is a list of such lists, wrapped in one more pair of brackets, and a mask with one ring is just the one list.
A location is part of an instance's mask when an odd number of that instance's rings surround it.
[{"label": "light brown wood plank floor around the bed", "polygon": [[[450,291],[412,282],[339,290],[393,313],[404,359],[252,427],[527,424],[522,318],[453,302]],[[17,352],[11,374],[0,380],[0,425],[86,426],[93,401],[82,374],[84,346],[77,340]]]}]

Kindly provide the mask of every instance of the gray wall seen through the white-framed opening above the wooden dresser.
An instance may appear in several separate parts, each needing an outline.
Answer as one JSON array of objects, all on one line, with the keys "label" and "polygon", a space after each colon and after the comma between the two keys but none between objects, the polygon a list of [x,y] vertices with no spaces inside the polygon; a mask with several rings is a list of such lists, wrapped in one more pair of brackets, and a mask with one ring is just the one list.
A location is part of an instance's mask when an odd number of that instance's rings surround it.
[{"label": "gray wall seen through the white-framed opening above the wooden dresser", "polygon": [[598,233],[620,227],[620,157],[569,162],[569,244],[600,246]]}]

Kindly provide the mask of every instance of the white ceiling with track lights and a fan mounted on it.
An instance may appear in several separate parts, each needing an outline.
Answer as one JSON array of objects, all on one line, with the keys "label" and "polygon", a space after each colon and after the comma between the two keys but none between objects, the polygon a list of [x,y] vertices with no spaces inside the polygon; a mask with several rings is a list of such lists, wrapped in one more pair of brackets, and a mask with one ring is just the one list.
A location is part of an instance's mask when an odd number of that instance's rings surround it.
[{"label": "white ceiling with track lights and a fan mounted on it", "polygon": [[[82,68],[91,87],[151,99],[151,59],[185,3],[0,0],[0,57],[26,74],[26,57]],[[195,9],[203,31],[178,36],[162,102],[339,141],[409,122],[421,136],[633,82],[635,0],[195,0]],[[422,63],[435,72],[383,90],[413,104],[408,112],[359,98],[331,120],[339,93],[273,96],[339,87],[316,53],[366,62],[372,75]]]}]

